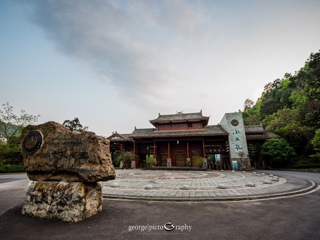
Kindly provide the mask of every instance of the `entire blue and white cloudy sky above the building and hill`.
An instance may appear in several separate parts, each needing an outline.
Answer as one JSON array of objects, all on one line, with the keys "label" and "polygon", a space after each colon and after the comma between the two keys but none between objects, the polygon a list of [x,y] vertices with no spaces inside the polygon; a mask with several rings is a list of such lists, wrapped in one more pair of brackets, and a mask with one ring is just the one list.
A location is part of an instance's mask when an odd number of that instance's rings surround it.
[{"label": "entire blue and white cloudy sky above the building and hill", "polygon": [[318,0],[0,0],[0,103],[98,135],[217,124],[320,49]]}]

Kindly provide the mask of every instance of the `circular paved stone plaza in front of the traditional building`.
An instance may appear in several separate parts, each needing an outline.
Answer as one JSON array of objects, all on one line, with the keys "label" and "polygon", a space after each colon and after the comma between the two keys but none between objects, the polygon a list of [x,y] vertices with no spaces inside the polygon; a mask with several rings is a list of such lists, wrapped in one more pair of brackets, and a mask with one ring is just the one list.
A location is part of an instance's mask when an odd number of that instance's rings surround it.
[{"label": "circular paved stone plaza in front of the traditional building", "polygon": [[272,176],[262,170],[116,169],[116,179],[101,183],[105,198],[172,201],[272,198],[300,194],[316,187],[309,180]]}]

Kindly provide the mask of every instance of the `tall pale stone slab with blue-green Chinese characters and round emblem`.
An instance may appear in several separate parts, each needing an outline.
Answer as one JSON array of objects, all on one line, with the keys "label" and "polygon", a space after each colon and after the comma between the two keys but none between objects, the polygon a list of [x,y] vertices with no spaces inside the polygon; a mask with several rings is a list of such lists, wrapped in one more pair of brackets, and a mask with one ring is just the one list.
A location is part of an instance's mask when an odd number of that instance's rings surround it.
[{"label": "tall pale stone slab with blue-green Chinese characters and round emblem", "polygon": [[[234,125],[232,125],[232,121],[234,122]],[[238,167],[244,167],[243,163],[241,162],[241,153],[243,152],[244,156],[242,157],[242,161],[247,161],[248,164],[250,164],[242,113],[225,113],[219,124],[229,133],[228,141],[230,161],[236,160]]]}]

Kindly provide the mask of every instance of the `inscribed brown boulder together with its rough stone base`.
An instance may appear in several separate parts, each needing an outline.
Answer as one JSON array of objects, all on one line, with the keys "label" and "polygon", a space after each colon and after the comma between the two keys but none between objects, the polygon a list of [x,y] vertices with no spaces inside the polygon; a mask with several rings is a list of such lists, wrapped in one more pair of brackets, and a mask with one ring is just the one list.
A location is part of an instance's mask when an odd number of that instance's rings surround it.
[{"label": "inscribed brown boulder together with its rough stone base", "polygon": [[49,121],[21,133],[24,169],[32,182],[22,214],[76,222],[102,210],[102,185],[115,178],[109,140]]}]

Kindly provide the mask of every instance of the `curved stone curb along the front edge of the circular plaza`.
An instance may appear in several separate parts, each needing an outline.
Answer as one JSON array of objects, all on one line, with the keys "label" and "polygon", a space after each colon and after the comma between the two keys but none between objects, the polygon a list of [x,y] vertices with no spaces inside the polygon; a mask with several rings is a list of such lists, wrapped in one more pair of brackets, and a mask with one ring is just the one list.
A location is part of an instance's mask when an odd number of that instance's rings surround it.
[{"label": "curved stone curb along the front edge of the circular plaza", "polygon": [[[317,187],[311,180],[306,180],[308,183],[311,183],[311,186],[308,186],[301,190],[291,191],[291,192],[283,192],[283,193],[274,193],[268,195],[253,195],[253,196],[239,196],[239,197],[184,197],[184,198],[173,198],[173,197],[134,197],[134,196],[118,196],[118,195],[107,195],[103,194],[102,196],[105,199],[119,199],[119,200],[147,200],[147,201],[240,201],[240,200],[254,200],[254,199],[272,199],[274,197],[279,196],[290,196],[297,195],[304,192],[311,191]],[[306,184],[308,185],[308,184]]]}]

